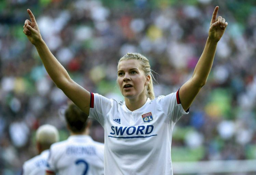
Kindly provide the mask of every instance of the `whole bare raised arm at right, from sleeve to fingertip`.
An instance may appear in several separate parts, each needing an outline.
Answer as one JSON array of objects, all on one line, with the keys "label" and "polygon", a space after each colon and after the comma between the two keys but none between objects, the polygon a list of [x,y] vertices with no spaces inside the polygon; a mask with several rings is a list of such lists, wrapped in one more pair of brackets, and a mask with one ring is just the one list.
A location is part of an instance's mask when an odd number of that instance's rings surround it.
[{"label": "whole bare raised arm at right, from sleeve to fingertip", "polygon": [[203,53],[197,62],[193,76],[179,90],[180,101],[184,110],[189,106],[197,96],[200,89],[205,85],[208,75],[212,68],[214,55],[218,41],[225,32],[228,23],[221,16],[217,17],[219,7],[216,6],[212,15],[208,39],[206,41]]}]

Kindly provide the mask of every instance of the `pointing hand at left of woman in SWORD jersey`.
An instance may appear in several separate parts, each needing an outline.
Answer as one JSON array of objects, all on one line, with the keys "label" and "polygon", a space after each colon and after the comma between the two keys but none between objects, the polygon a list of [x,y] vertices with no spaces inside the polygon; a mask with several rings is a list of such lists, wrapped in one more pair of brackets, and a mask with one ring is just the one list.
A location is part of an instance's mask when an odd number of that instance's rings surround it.
[{"label": "pointing hand at left of woman in SWORD jersey", "polygon": [[31,21],[28,19],[25,20],[25,24],[23,26],[23,33],[25,33],[29,41],[33,45],[35,45],[38,41],[42,39],[42,37],[33,13],[29,9],[27,10],[27,12],[30,16]]}]

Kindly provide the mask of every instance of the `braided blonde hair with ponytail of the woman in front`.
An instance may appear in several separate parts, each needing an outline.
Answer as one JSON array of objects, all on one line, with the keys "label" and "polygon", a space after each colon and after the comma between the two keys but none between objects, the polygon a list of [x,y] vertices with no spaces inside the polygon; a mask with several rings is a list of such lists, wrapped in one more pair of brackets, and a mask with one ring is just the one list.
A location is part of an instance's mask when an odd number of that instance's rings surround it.
[{"label": "braided blonde hair with ponytail of the woman in front", "polygon": [[145,76],[149,75],[151,77],[150,82],[147,85],[146,96],[151,100],[155,99],[155,93],[153,89],[153,79],[155,80],[155,78],[152,74],[153,71],[150,69],[150,63],[148,59],[140,53],[127,53],[125,56],[119,59],[118,64],[120,61],[123,61],[123,60],[139,60],[140,61],[141,69],[145,73]]}]

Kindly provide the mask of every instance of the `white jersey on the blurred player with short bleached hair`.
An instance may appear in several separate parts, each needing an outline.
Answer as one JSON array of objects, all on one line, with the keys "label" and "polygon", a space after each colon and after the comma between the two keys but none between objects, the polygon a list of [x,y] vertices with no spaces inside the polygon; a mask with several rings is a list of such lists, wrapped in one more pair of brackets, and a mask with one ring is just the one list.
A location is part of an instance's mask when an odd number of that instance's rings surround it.
[{"label": "white jersey on the blurred player with short bleached hair", "polygon": [[49,150],[44,150],[40,155],[27,160],[23,164],[22,175],[45,175]]}]

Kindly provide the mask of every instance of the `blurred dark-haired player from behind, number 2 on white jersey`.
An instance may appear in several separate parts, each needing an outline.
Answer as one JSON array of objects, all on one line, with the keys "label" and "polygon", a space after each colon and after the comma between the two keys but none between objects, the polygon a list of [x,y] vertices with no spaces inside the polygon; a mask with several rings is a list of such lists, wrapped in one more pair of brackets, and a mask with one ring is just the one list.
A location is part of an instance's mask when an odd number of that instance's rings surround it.
[{"label": "blurred dark-haired player from behind, number 2 on white jersey", "polygon": [[104,144],[89,136],[91,120],[75,104],[65,112],[71,136],[50,148],[47,175],[103,175]]}]

